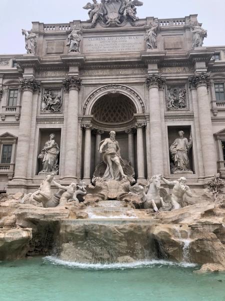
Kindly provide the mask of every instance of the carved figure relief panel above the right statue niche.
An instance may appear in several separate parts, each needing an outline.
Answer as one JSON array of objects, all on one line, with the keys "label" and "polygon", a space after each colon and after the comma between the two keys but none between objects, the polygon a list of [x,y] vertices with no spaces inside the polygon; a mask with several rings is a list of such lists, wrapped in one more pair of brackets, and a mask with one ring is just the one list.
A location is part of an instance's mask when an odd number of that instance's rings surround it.
[{"label": "carved figure relief panel above the right statue niche", "polygon": [[185,84],[167,85],[165,106],[167,111],[189,110],[187,86]]}]

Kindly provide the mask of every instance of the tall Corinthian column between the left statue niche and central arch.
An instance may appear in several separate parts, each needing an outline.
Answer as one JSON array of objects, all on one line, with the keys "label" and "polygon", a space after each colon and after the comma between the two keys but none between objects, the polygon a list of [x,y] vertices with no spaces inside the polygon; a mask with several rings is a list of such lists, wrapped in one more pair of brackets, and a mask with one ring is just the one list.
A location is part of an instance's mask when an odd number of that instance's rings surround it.
[{"label": "tall Corinthian column between the left statue niche and central arch", "polygon": [[69,92],[66,141],[65,141],[65,164],[63,179],[76,179],[76,160],[78,149],[78,91],[80,88],[79,77],[66,77],[63,81],[65,89]]}]

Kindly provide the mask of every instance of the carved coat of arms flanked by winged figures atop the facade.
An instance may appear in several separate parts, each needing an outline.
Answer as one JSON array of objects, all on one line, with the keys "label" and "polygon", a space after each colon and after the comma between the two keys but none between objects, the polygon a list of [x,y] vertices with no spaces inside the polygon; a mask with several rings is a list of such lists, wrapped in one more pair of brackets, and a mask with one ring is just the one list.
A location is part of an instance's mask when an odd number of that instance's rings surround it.
[{"label": "carved coat of arms flanked by winged figures atop the facade", "polygon": [[93,0],[93,4],[88,2],[83,9],[89,10],[89,22],[95,24],[99,20],[109,26],[120,25],[125,20],[138,20],[136,6],[142,5],[138,0],[101,0],[101,3]]}]

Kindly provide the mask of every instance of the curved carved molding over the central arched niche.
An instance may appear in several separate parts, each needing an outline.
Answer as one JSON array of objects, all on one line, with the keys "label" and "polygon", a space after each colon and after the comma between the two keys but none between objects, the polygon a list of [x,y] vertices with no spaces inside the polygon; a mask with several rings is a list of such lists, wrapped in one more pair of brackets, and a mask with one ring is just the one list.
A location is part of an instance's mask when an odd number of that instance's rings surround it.
[{"label": "curved carved molding over the central arched niche", "polygon": [[142,99],[140,98],[140,96],[134,90],[132,90],[129,87],[123,86],[123,85],[111,84],[111,85],[103,86],[103,87],[95,90],[93,93],[91,93],[89,95],[89,97],[87,98],[87,100],[84,102],[84,105],[83,105],[83,108],[82,108],[83,115],[86,114],[86,108],[87,108],[89,102],[91,101],[91,99],[95,95],[97,95],[97,94],[99,94],[101,92],[105,92],[105,94],[107,94],[107,93],[110,94],[110,93],[121,93],[122,91],[126,91],[126,92],[132,94],[132,96],[134,96],[135,99],[137,100],[137,102],[140,104],[142,113],[145,112],[144,103],[143,103]]}]

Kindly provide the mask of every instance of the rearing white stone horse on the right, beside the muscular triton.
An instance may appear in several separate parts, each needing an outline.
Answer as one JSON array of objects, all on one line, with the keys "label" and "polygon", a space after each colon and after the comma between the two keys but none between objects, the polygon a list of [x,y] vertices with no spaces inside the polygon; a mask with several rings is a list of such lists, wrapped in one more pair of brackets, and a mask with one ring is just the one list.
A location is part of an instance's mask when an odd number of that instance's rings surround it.
[{"label": "rearing white stone horse on the right, beside the muscular triton", "polygon": [[153,176],[148,181],[147,184],[147,193],[145,193],[144,209],[154,209],[155,212],[159,208],[164,208],[165,204],[163,199],[160,197],[160,188],[161,188],[161,175]]}]

